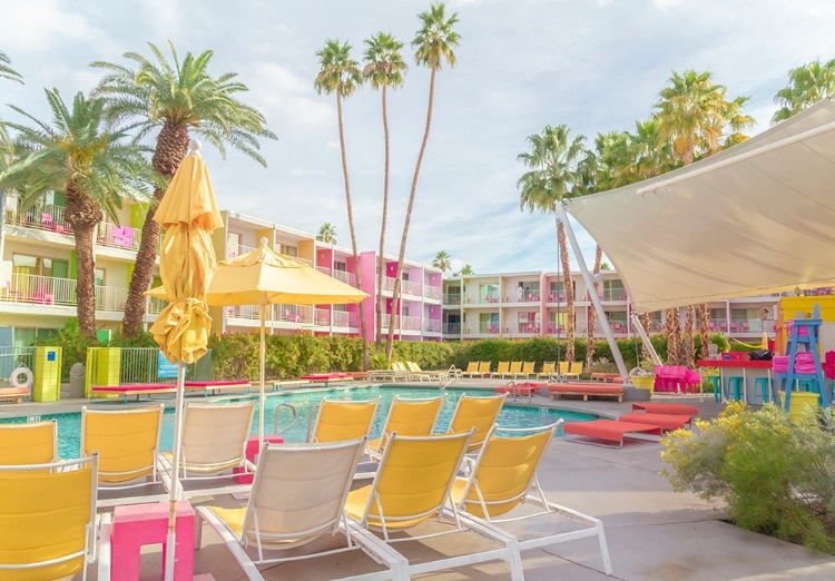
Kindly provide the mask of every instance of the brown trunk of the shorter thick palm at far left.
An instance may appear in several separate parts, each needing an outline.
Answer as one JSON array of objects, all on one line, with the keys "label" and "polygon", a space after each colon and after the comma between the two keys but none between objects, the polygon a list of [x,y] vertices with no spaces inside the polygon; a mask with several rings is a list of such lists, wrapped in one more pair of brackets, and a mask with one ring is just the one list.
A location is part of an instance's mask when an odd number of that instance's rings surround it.
[{"label": "brown trunk of the shorter thick palm at far left", "polygon": [[68,184],[67,221],[72,226],[76,242],[76,313],[78,332],[88,341],[96,341],[96,263],[92,254],[92,232],[101,221],[99,207]]}]

